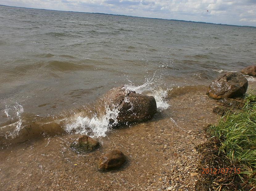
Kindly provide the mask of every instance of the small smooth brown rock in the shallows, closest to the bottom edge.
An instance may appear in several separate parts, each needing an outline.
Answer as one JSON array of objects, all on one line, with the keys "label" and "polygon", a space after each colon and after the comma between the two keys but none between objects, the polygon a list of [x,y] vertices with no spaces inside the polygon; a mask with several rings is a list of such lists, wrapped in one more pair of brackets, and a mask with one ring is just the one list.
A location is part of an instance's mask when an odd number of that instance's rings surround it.
[{"label": "small smooth brown rock in the shallows, closest to the bottom edge", "polygon": [[125,161],[125,155],[120,150],[115,149],[101,156],[98,167],[101,170],[117,169]]}]

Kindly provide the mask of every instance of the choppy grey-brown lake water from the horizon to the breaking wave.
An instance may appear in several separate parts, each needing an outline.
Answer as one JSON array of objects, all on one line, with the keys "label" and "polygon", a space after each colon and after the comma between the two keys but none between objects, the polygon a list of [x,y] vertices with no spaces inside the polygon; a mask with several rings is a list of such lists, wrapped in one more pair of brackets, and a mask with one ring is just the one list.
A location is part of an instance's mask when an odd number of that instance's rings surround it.
[{"label": "choppy grey-brown lake water from the horizon to the breaking wave", "polygon": [[173,87],[208,85],[221,72],[255,64],[253,27],[6,6],[0,6],[0,25],[0,127],[6,137],[19,134],[27,121],[48,117],[43,123],[50,123],[67,113],[75,117],[61,123],[63,130],[104,136],[107,116],[74,110],[93,110],[87,104],[113,87],[154,95],[161,111]]}]

